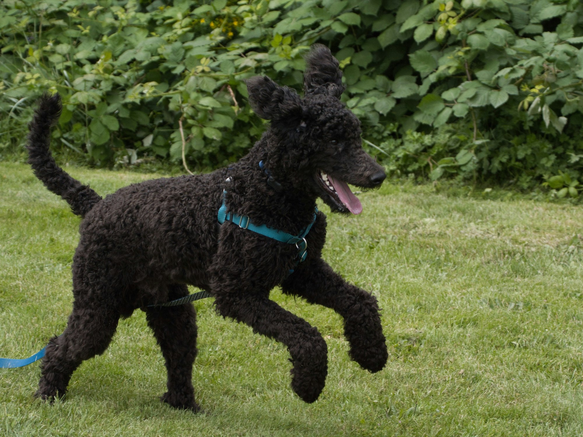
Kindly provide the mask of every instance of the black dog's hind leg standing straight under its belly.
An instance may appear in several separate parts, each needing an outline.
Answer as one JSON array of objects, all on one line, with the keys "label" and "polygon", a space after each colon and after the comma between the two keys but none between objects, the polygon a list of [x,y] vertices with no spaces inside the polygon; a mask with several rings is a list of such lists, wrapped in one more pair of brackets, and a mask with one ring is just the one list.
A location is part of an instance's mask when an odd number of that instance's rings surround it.
[{"label": "black dog's hind leg standing straight under its belly", "polygon": [[[170,286],[168,299],[188,294],[185,285]],[[196,312],[192,304],[154,306],[146,309],[146,320],[160,345],[168,380],[161,400],[175,408],[200,410],[194,400],[192,364],[196,358]]]}]

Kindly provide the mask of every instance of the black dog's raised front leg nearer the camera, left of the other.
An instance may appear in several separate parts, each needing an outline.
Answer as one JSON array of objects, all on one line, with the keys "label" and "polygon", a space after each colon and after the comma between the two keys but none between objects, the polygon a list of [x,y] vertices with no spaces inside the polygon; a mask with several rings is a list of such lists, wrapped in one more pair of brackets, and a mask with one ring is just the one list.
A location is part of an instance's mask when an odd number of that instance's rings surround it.
[{"label": "black dog's raised front leg nearer the camera, left of the other", "polygon": [[215,304],[221,315],[285,344],[293,362],[291,388],[305,402],[318,399],[328,373],[328,348],[315,327],[267,297],[245,290],[217,293]]}]

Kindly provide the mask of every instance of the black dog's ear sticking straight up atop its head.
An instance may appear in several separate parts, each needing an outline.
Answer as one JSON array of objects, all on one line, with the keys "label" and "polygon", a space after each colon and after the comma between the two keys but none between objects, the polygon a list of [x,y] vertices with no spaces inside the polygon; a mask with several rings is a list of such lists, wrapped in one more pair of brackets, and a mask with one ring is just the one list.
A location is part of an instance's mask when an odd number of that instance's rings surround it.
[{"label": "black dog's ear sticking straight up atop its head", "polygon": [[338,59],[328,47],[312,45],[305,57],[304,91],[307,94],[328,94],[340,98],[346,87],[342,84],[342,72]]}]

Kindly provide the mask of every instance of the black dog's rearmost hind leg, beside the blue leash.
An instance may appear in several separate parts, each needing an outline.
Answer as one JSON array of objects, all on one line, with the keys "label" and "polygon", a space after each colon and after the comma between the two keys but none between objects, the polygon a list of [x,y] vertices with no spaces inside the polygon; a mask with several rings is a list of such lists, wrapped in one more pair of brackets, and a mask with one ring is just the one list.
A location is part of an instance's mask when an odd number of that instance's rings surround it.
[{"label": "black dog's rearmost hind leg, beside the blue leash", "polygon": [[65,331],[49,341],[35,396],[54,400],[66,393],[73,371],[85,360],[102,354],[117,329],[120,313],[103,302],[80,300],[76,294]]}]

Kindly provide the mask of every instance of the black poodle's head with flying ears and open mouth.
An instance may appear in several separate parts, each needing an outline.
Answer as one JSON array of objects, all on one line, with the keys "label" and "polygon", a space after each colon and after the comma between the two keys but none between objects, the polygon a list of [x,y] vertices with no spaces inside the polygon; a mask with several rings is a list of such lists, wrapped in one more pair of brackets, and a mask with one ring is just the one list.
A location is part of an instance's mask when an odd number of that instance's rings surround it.
[{"label": "black poodle's head with flying ears and open mouth", "polygon": [[319,196],[333,212],[359,214],[360,200],[347,184],[377,188],[385,172],[362,149],[360,121],[340,101],[345,86],[338,60],[316,44],[306,63],[304,98],[264,76],[247,80],[249,101],[259,117],[271,120],[274,154],[286,180]]}]

